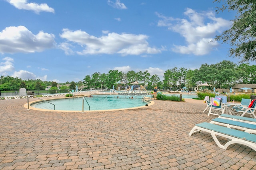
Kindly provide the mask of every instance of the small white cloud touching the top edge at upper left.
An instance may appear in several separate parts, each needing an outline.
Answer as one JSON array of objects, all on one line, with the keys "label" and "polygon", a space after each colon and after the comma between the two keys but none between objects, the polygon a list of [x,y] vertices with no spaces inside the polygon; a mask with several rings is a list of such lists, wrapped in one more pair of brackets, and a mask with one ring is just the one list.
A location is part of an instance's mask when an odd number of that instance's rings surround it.
[{"label": "small white cloud touching the top edge at upper left", "polygon": [[19,10],[30,10],[34,11],[36,14],[40,12],[52,12],[54,9],[50,8],[47,4],[36,4],[34,2],[28,3],[27,0],[7,0],[11,5]]}]

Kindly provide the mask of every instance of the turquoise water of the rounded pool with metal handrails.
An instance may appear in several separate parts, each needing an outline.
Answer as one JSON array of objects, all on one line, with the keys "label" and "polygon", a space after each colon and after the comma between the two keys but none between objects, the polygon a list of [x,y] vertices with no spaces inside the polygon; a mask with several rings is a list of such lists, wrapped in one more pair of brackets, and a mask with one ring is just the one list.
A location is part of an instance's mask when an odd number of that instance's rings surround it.
[{"label": "turquoise water of the rounded pool with metal handrails", "polygon": [[[111,96],[111,97],[110,97]],[[126,96],[127,97],[127,96]],[[90,105],[90,110],[110,110],[110,109],[127,109],[131,107],[145,106],[148,102],[142,101],[142,98],[117,98],[116,95],[94,95],[94,97],[85,98]],[[83,98],[65,98],[58,100],[48,100],[55,105],[55,110],[82,111]],[[38,109],[54,110],[54,106],[47,102],[38,102],[31,104],[31,107]],[[84,100],[84,111],[89,110],[89,106]]]}]

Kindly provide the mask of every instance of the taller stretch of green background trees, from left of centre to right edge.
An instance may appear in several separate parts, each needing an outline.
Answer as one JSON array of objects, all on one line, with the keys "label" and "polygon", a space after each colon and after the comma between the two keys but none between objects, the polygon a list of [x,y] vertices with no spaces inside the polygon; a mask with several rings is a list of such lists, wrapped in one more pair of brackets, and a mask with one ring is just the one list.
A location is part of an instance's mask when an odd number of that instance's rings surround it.
[{"label": "taller stretch of green background trees, from left of centre to right edge", "polygon": [[88,88],[105,89],[115,87],[119,80],[126,85],[137,81],[142,86],[147,86],[148,90],[152,90],[154,86],[161,89],[164,87],[194,88],[198,84],[208,83],[211,88],[230,88],[234,84],[253,84],[256,83],[256,66],[243,63],[237,65],[231,61],[222,61],[217,64],[202,64],[199,69],[191,70],[188,68],[168,69],[164,72],[164,80],[160,81],[157,74],[150,75],[148,70],[144,72],[135,72],[133,70],[124,73],[118,70],[110,70],[108,74],[86,75],[84,85]]}]

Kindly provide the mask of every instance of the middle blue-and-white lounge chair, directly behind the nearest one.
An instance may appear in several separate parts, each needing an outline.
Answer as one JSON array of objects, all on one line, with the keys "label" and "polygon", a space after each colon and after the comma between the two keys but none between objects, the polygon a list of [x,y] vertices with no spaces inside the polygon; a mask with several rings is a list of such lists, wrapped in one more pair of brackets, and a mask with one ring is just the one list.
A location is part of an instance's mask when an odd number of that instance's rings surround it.
[{"label": "middle blue-and-white lounge chair, directly behind the nearest one", "polygon": [[222,125],[226,126],[228,128],[233,128],[233,129],[239,129],[242,131],[245,131],[247,133],[254,133],[256,134],[256,125],[250,124],[250,123],[244,123],[240,121],[234,121],[234,120],[228,120],[228,119],[222,119],[222,118],[215,118],[210,121],[212,124],[216,125]]}]

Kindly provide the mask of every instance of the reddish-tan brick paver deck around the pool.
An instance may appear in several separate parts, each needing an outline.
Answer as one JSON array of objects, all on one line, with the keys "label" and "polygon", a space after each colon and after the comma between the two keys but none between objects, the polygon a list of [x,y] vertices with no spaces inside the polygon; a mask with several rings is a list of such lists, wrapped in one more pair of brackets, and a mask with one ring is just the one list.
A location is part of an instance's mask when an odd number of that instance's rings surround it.
[{"label": "reddish-tan brick paver deck around the pool", "polygon": [[256,169],[249,147],[224,150],[209,133],[188,136],[196,123],[216,116],[202,113],[202,100],[185,101],[79,113],[28,110],[27,99],[0,100],[0,169]]}]

